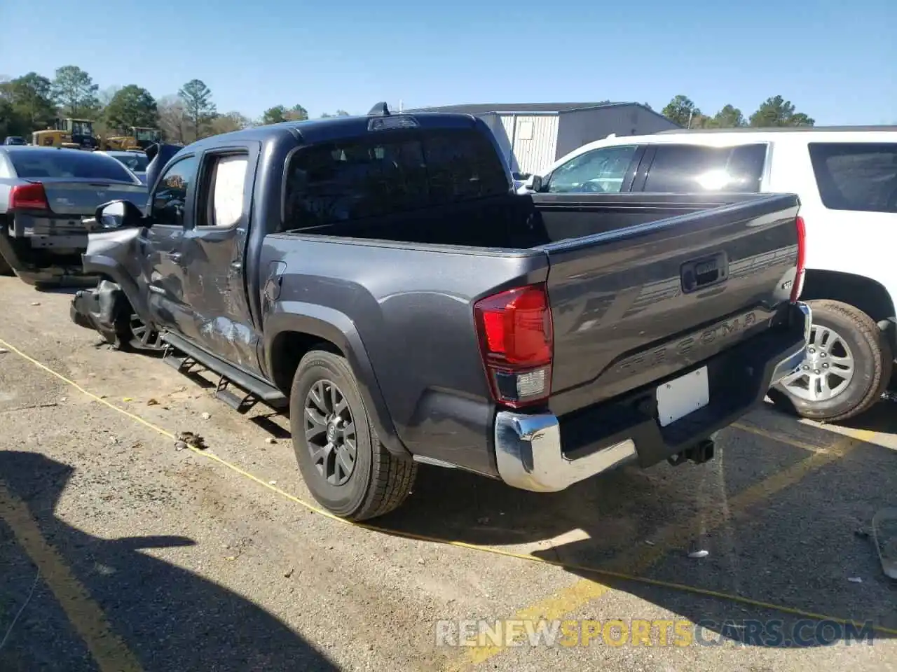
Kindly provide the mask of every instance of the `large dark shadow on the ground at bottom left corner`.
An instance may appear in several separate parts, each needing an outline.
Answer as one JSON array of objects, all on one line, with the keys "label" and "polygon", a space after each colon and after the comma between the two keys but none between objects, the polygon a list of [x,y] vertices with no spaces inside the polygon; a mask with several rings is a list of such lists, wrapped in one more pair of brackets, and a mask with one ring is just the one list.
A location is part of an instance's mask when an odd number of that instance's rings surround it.
[{"label": "large dark shadow on the ground at bottom left corner", "polygon": [[[13,534],[17,528],[22,533],[22,503],[27,505],[26,517],[37,522],[41,536],[55,547],[62,564],[89,593],[88,599],[99,605],[113,634],[147,672],[338,669],[262,607],[141,550],[193,546],[191,539],[105,539],[59,520],[54,513],[57,500],[73,472],[68,465],[38,453],[0,452],[0,555],[4,558],[0,563],[4,566],[0,632],[12,624],[33,586],[30,601],[0,650],[4,672],[98,668],[77,634],[80,629],[100,636],[90,609],[81,604],[83,599],[73,599],[72,617],[66,617],[48,586],[56,585],[58,590],[61,585],[61,592],[71,598],[72,582],[59,572],[46,582],[36,578],[37,568],[26,555],[26,545]],[[32,556],[47,555],[34,551],[33,539],[27,547]],[[110,648],[108,641],[102,646]]]}]

